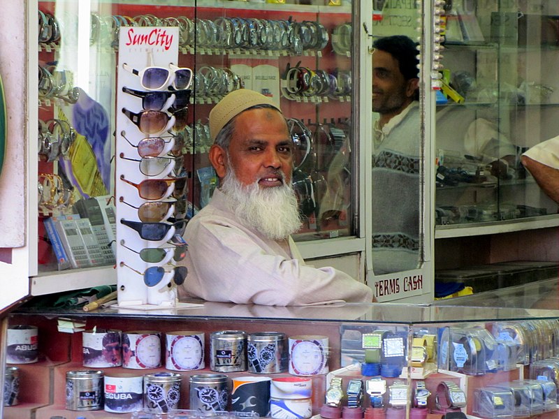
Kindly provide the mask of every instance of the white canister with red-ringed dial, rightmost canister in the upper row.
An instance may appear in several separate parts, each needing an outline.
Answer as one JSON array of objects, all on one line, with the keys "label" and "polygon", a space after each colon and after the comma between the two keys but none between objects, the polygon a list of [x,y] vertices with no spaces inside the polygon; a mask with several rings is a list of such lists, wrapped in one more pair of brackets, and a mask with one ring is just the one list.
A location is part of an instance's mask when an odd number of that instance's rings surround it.
[{"label": "white canister with red-ringed dial, rightmost canister in the upper row", "polygon": [[289,374],[298,376],[328,374],[328,337],[314,335],[289,337]]}]

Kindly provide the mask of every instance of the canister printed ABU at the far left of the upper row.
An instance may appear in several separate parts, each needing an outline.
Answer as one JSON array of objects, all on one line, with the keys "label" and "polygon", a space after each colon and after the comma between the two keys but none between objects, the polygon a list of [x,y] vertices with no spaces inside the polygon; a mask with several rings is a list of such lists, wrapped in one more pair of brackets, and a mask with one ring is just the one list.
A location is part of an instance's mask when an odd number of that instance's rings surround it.
[{"label": "canister printed ABU at the far left of the upper row", "polygon": [[31,364],[38,361],[38,328],[30,325],[11,325],[6,338],[6,362]]}]

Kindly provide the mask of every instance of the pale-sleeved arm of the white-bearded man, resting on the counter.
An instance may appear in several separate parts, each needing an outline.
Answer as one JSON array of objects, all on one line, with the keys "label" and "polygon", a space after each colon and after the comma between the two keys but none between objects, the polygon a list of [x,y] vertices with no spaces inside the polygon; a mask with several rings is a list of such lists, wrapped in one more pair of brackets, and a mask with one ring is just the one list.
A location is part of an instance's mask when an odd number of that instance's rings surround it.
[{"label": "pale-sleeved arm of the white-bearded man, resting on the counter", "polygon": [[193,237],[189,253],[201,289],[187,291],[205,300],[266,305],[372,301],[370,288],[344,272],[268,254],[237,228],[198,226]]}]

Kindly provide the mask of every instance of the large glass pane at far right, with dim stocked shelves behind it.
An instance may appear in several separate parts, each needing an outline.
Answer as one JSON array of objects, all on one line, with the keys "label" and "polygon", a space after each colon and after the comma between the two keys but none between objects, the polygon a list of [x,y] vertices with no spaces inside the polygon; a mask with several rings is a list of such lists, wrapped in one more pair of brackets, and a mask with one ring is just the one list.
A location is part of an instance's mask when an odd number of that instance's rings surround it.
[{"label": "large glass pane at far right, with dim stocked shelves behind it", "polygon": [[521,163],[526,150],[559,133],[556,74],[549,71],[558,21],[555,2],[548,3],[453,1],[447,7],[437,225],[557,212]]}]

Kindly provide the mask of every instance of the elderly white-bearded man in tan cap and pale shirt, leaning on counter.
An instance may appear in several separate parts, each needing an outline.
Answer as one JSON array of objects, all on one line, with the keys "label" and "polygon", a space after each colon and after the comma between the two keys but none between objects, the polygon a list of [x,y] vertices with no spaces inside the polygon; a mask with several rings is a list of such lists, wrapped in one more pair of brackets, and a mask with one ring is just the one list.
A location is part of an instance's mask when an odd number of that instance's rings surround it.
[{"label": "elderly white-bearded man in tan cap and pale shirt, leaning on counter", "polygon": [[305,265],[291,239],[301,221],[282,111],[256,91],[236,90],[210,112],[210,134],[220,187],[184,233],[181,296],[277,306],[371,302],[371,289],[344,272]]}]

